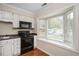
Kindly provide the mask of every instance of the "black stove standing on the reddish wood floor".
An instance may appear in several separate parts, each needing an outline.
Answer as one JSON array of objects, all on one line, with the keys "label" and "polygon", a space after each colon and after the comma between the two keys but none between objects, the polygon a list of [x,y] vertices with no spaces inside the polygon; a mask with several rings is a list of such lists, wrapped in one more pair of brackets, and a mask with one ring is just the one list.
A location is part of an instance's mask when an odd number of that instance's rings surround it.
[{"label": "black stove standing on the reddish wood floor", "polygon": [[29,31],[19,31],[21,37],[21,54],[26,53],[34,48],[34,36]]}]

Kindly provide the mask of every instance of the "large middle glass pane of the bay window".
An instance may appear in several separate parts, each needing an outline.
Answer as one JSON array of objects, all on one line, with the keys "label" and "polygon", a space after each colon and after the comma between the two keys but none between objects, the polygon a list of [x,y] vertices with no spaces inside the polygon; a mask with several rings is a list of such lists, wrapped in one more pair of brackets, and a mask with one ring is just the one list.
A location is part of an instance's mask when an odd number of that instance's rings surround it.
[{"label": "large middle glass pane of the bay window", "polygon": [[48,19],[47,38],[51,40],[63,41],[63,16]]}]

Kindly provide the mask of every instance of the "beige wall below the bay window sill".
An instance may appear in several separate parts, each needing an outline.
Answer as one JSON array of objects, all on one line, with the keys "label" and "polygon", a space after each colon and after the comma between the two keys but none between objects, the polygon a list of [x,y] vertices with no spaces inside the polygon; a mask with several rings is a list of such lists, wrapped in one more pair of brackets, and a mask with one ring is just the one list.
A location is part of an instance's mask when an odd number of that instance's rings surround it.
[{"label": "beige wall below the bay window sill", "polygon": [[54,44],[37,40],[37,48],[45,51],[51,56],[79,56],[79,53],[64,49],[62,47],[56,46]]}]

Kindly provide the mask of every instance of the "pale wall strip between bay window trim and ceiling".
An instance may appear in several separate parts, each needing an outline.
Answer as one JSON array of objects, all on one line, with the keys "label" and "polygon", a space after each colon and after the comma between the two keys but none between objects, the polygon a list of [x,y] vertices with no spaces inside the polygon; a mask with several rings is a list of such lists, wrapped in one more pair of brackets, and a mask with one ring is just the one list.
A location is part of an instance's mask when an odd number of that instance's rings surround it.
[{"label": "pale wall strip between bay window trim and ceiling", "polygon": [[37,12],[36,16],[38,18],[49,17],[56,13],[61,13],[63,10],[71,7],[72,5],[74,5],[74,4],[72,4],[72,3],[52,3],[52,4],[49,4],[47,7],[39,10],[39,12]]}]

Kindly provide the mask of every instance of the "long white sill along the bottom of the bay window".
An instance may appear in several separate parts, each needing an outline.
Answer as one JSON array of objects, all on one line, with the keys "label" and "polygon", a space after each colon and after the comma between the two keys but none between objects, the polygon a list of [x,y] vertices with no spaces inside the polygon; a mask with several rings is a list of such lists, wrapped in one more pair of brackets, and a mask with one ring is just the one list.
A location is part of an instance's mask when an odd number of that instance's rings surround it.
[{"label": "long white sill along the bottom of the bay window", "polygon": [[61,43],[61,42],[56,42],[56,41],[51,41],[51,40],[46,40],[45,38],[38,38],[38,40],[40,41],[44,41],[44,42],[47,42],[47,43],[50,43],[50,44],[53,44],[57,47],[60,47],[60,48],[63,48],[63,49],[66,49],[68,51],[72,51],[72,52],[75,52],[75,53],[79,53],[76,49],[74,49],[73,47],[70,47],[64,43]]}]

